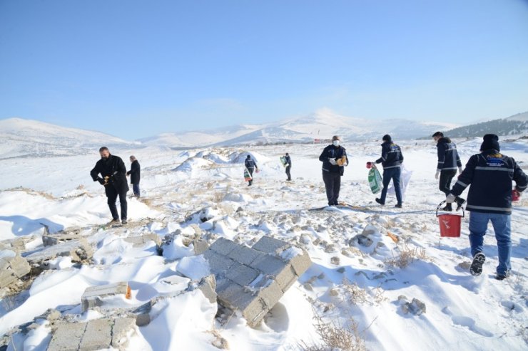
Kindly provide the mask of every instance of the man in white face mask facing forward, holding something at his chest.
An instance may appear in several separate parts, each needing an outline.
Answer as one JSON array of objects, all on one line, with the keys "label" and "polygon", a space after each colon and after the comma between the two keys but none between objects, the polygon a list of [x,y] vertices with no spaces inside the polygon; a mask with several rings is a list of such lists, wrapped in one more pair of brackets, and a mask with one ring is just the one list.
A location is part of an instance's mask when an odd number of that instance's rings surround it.
[{"label": "man in white face mask facing forward, holding something at his chest", "polygon": [[341,138],[334,135],[332,144],[325,147],[319,156],[319,161],[323,162],[323,182],[328,206],[339,204],[337,199],[341,189],[341,177],[345,174],[345,166],[348,165],[347,150],[340,144]]}]

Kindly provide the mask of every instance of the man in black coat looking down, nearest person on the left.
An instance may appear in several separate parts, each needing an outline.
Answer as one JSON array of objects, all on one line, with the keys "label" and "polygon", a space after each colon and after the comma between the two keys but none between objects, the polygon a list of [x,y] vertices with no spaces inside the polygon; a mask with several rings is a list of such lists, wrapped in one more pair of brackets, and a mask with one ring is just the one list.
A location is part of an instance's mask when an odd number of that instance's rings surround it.
[{"label": "man in black coat looking down, nearest person on the left", "polygon": [[[112,214],[112,221],[110,223],[119,222],[119,214],[116,207],[116,200],[119,197],[119,202],[121,203],[121,223],[126,224],[126,192],[128,192],[128,184],[126,182],[125,163],[121,157],[110,154],[108,147],[101,147],[99,154],[101,154],[101,159],[93,167],[90,175],[93,182],[99,182],[104,186],[104,191],[108,198],[108,207]],[[99,174],[102,177],[99,177]]]}]

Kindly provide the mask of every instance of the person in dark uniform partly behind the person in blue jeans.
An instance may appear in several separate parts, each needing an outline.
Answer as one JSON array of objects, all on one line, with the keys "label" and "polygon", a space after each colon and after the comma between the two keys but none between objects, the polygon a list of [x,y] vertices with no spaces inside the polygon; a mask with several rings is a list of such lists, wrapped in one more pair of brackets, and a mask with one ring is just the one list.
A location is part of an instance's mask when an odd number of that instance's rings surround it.
[{"label": "person in dark uniform partly behind the person in blue jeans", "polygon": [[[440,192],[443,192],[445,196],[449,195],[451,189],[451,181],[458,172],[462,173],[462,162],[457,152],[457,145],[451,141],[450,138],[444,137],[442,132],[435,132],[432,138],[437,142],[437,153],[438,153],[438,164],[435,178],[440,177],[439,188]],[[457,203],[457,209],[464,204],[465,200],[457,197],[455,199]],[[444,211],[452,211],[451,204],[446,204],[443,208]]]}]

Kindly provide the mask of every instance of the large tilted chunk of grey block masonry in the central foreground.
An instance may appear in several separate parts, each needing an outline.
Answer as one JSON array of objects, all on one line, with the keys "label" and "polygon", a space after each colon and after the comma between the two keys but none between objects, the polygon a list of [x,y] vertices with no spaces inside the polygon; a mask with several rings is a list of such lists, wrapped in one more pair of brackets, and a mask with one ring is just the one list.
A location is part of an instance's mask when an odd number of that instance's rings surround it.
[{"label": "large tilted chunk of grey block masonry in the central foreground", "polygon": [[269,236],[253,247],[220,238],[203,255],[216,278],[218,302],[240,310],[252,327],[312,264],[306,251]]}]

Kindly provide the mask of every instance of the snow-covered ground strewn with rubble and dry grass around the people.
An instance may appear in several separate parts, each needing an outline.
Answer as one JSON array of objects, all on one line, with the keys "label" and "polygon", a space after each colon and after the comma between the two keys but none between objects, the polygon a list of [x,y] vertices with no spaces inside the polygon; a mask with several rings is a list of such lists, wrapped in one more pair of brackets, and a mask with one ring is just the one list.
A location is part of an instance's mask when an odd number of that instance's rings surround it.
[{"label": "snow-covered ground strewn with rubble and dry grass around the people", "polygon": [[[478,152],[479,140],[456,140],[462,163]],[[76,320],[98,318],[81,313],[84,289],[90,285],[128,281],[133,305],[181,289],[163,279],[175,273],[191,251],[173,241],[164,256],[154,244],[134,248],[123,236],[153,232],[160,236],[191,230],[250,245],[263,235],[290,241],[308,250],[313,266],[283,296],[258,328],[239,315],[226,317],[218,306],[196,291],[166,300],[156,318],[138,328],[131,350],[215,350],[220,335],[229,350],[298,350],[320,343],[315,316],[324,322],[357,330],[368,350],[526,350],[528,342],[528,209],[527,199],[514,204],[512,268],[507,281],[496,281],[497,246],[491,235],[484,243],[484,273],[470,276],[468,218],[460,238],[440,238],[437,204],[445,197],[435,180],[436,147],[427,141],[399,143],[405,166],[412,172],[403,209],[375,203],[367,184],[365,162],[377,159],[379,143],[344,145],[350,165],[342,177],[340,201],[351,209],[309,211],[326,204],[320,151],[325,145],[188,150],[111,150],[128,167],[128,156],[141,163],[143,200],[128,201],[128,228],[99,229],[91,242],[93,263],[72,266],[57,260],[18,297],[0,305],[0,332],[34,320],[49,308]],[[528,169],[528,142],[502,142],[504,154]],[[261,171],[253,187],[243,182],[245,152]],[[292,156],[293,182],[285,182],[279,156]],[[0,169],[0,240],[39,236],[71,227],[93,230],[109,221],[103,188],[91,182],[93,156],[6,159]],[[464,193],[465,194],[465,193]],[[213,218],[186,221],[210,207]],[[243,211],[236,211],[241,207]],[[372,245],[351,240],[372,229]],[[11,253],[2,251],[1,256]],[[413,256],[400,268],[402,254]],[[401,260],[400,260],[401,261]],[[172,290],[171,290],[172,289]],[[421,315],[402,313],[400,296],[425,303]],[[217,317],[215,318],[215,315]],[[24,350],[45,350],[51,337],[44,320],[25,340]],[[213,332],[214,331],[214,332]],[[217,336],[215,336],[217,335]]]}]

